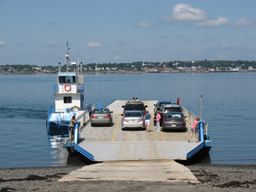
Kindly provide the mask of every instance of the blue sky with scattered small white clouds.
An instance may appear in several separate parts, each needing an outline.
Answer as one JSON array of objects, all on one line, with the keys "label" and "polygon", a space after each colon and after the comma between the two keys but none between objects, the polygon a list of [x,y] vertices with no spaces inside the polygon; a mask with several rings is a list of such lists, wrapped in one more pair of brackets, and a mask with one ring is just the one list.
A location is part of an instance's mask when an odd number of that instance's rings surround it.
[{"label": "blue sky with scattered small white clouds", "polygon": [[0,0],[0,65],[256,60],[254,0]]}]

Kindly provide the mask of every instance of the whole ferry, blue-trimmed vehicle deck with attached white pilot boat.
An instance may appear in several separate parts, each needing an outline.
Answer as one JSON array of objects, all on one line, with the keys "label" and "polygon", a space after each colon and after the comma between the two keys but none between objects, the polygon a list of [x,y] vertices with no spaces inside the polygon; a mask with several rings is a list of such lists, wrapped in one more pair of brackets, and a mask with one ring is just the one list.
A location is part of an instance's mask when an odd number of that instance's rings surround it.
[{"label": "whole ferry, blue-trimmed vehicle deck with attached white pilot boat", "polygon": [[[68,43],[67,43],[68,60]],[[105,108],[113,111],[113,124],[92,126],[89,112],[84,108],[84,76],[77,72],[60,72],[54,85],[55,106],[48,108],[47,126],[52,129],[68,129],[72,116],[76,116],[74,138],[66,141],[70,154],[85,156],[91,161],[125,160],[188,160],[201,151],[212,148],[209,124],[201,119],[197,126],[197,139],[188,142],[190,127],[196,114],[180,106],[186,116],[186,130],[156,132],[153,118],[149,132],[144,130],[122,130],[122,115],[127,100],[113,100]],[[157,100],[141,100],[153,116]],[[102,108],[99,102],[98,108]]]}]

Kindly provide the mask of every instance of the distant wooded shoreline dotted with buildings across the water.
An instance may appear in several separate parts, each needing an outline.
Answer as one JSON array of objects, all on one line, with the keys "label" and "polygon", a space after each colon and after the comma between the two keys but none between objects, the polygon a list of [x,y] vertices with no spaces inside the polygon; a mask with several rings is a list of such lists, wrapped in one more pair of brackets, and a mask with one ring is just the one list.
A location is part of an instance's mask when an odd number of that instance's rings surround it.
[{"label": "distant wooded shoreline dotted with buildings across the water", "polygon": [[[144,63],[144,65],[143,65]],[[143,68],[190,68],[190,67],[202,67],[202,68],[243,68],[247,69],[249,67],[256,68],[256,61],[252,60],[195,60],[195,61],[182,61],[182,60],[173,60],[173,61],[164,61],[164,62],[149,62],[149,61],[136,61],[132,63],[88,63],[83,64],[83,68],[85,70],[91,68],[91,70],[95,70],[95,68],[116,68],[124,69],[124,68],[136,68],[136,70],[140,71]],[[40,69],[38,69],[40,68]],[[28,65],[28,64],[12,64],[12,65],[2,65],[0,66],[0,72],[9,71],[9,72],[40,72],[47,70],[48,72],[57,72],[58,66],[36,66],[36,65]],[[69,66],[71,68],[71,66]],[[64,65],[61,68],[61,71],[67,71],[67,66]]]}]

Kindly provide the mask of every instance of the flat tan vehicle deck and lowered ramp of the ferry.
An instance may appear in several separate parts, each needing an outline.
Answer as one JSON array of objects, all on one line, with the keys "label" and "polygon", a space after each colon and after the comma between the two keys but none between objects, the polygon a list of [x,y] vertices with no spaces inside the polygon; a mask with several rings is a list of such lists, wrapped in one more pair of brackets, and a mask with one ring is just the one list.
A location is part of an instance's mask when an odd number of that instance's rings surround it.
[{"label": "flat tan vehicle deck and lowered ramp of the ferry", "polygon": [[[149,132],[145,130],[121,129],[124,108],[127,100],[115,100],[107,107],[113,111],[112,126],[94,126],[87,124],[80,134],[78,145],[92,154],[94,161],[120,160],[186,160],[188,153],[198,147],[201,142],[189,142],[190,128],[186,132],[156,132],[153,118]],[[143,100],[149,113],[154,116],[156,100]],[[191,125],[187,122],[187,127]]]}]

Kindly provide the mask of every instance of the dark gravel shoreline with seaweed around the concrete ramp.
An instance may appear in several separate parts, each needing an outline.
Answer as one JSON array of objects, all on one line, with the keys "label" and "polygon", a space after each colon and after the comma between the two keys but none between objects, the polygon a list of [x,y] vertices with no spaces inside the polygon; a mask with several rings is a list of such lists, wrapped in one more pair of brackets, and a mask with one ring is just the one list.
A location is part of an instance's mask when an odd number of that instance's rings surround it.
[{"label": "dark gravel shoreline with seaweed around the concrete ramp", "polygon": [[256,164],[186,165],[201,183],[72,181],[61,177],[84,165],[0,169],[0,191],[256,191]]}]

